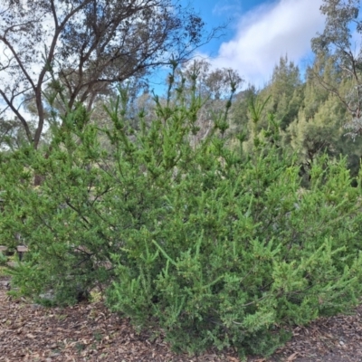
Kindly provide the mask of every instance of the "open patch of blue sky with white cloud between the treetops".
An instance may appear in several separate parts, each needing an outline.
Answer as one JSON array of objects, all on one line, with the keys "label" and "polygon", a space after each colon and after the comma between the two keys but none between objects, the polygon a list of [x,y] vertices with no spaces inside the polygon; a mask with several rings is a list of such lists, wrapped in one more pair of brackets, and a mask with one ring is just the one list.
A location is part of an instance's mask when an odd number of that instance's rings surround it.
[{"label": "open patch of blue sky with white cloud between the treetops", "polygon": [[229,21],[225,36],[201,55],[215,67],[231,67],[262,87],[281,56],[302,70],[312,59],[310,39],[324,27],[322,0],[194,0],[207,26]]}]

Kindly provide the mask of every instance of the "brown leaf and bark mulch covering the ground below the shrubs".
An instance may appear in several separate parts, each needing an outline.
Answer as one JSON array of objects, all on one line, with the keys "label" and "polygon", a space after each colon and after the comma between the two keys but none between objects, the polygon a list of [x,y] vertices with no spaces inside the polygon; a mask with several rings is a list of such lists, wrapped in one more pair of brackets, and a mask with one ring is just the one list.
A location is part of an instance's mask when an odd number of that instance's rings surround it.
[{"label": "brown leaf and bark mulch covering the ground below the shrubs", "polygon": [[[110,313],[102,302],[68,308],[43,308],[6,295],[0,279],[0,361],[238,362],[231,351],[202,356],[177,355],[162,338],[137,334],[128,319]],[[362,306],[350,316],[318,319],[293,329],[293,338],[271,358],[248,362],[362,361]]]}]

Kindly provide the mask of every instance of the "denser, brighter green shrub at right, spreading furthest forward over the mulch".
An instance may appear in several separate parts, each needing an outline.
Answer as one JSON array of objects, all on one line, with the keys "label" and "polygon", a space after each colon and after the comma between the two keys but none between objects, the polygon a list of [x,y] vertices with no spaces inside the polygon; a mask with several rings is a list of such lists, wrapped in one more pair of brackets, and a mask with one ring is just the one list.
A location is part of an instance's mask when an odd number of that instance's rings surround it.
[{"label": "denser, brighter green shrub at right, spreading furthest forward over the mulch", "polygon": [[268,355],[287,326],[357,303],[359,190],[344,161],[316,164],[299,196],[298,167],[277,148],[249,162],[222,157],[224,167],[217,154],[195,155],[167,214],[126,243],[132,267],[113,256],[109,304],[137,326],[162,327],[176,349]]}]

